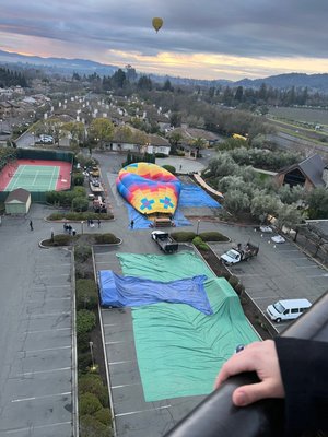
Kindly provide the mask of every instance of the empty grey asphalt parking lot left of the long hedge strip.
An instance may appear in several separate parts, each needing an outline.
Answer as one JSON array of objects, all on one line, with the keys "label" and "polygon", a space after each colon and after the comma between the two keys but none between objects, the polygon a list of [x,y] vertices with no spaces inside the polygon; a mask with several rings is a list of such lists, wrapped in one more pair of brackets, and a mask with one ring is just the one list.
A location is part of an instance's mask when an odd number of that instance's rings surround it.
[{"label": "empty grey asphalt parking lot left of the long hedge strip", "polygon": [[71,255],[38,248],[40,225],[5,217],[0,229],[1,437],[73,433]]}]

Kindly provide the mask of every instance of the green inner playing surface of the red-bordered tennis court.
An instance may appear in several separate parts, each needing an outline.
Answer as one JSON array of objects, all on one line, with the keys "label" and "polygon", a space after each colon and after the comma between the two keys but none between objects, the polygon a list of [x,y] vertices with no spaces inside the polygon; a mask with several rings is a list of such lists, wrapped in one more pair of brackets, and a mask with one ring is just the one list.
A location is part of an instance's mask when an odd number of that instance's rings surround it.
[{"label": "green inner playing surface of the red-bordered tennis court", "polygon": [[8,191],[24,188],[28,191],[51,191],[60,177],[60,166],[19,165],[5,187]]}]

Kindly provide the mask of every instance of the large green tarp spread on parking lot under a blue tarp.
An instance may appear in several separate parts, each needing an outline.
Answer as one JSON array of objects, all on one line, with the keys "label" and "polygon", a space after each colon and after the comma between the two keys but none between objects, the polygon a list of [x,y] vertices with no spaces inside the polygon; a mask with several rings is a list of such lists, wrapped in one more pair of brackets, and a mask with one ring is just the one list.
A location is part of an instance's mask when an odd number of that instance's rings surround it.
[{"label": "large green tarp spread on parking lot under a blue tarp", "polygon": [[214,314],[185,304],[132,308],[134,343],[145,401],[208,394],[236,345],[259,340],[239,298],[196,255],[118,255],[125,275],[173,281],[206,274]]}]

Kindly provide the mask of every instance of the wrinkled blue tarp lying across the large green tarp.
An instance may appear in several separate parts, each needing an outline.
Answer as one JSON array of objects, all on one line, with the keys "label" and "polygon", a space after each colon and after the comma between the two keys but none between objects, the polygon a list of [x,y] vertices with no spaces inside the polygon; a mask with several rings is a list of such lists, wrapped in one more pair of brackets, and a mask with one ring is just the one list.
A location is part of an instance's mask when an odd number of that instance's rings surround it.
[{"label": "wrinkled blue tarp lying across the large green tarp", "polygon": [[143,277],[120,276],[112,270],[98,271],[102,306],[137,307],[160,302],[187,304],[206,315],[213,310],[204,291],[204,274],[160,282]]}]

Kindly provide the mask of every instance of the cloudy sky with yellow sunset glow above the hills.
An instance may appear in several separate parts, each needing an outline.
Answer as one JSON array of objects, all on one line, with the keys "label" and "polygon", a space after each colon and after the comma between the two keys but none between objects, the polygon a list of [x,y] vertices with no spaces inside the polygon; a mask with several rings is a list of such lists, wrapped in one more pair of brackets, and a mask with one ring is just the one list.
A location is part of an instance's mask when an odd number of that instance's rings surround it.
[{"label": "cloudy sky with yellow sunset glow above the hills", "polygon": [[0,49],[236,81],[328,73],[327,23],[328,0],[1,0]]}]

